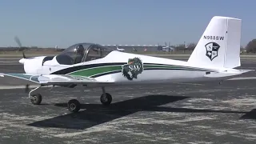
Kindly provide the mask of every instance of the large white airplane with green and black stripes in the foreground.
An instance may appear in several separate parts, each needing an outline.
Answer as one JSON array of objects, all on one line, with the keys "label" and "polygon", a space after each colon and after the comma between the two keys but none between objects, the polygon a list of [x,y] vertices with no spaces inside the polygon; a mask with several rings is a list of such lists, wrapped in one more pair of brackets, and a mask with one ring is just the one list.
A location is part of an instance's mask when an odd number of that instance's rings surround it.
[{"label": "large white airplane with green and black stripes in the foreground", "polygon": [[[0,74],[37,82],[39,86],[102,87],[100,101],[109,106],[112,96],[106,86],[143,85],[172,82],[220,81],[252,70],[236,70],[240,63],[242,20],[215,16],[202,34],[187,62],[129,54],[93,43],[78,43],[56,56],[26,58],[19,62],[26,74]],[[41,94],[29,93],[34,105]],[[68,102],[71,112],[80,110],[76,99]]]}]

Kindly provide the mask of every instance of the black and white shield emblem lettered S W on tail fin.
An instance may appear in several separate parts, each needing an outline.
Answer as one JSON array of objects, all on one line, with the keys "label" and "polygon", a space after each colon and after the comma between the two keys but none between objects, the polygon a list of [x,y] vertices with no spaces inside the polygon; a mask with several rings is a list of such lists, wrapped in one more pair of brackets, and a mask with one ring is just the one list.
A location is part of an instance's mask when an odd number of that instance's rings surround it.
[{"label": "black and white shield emblem lettered S W on tail fin", "polygon": [[220,46],[216,42],[209,42],[206,44],[206,56],[210,58],[210,61],[218,57],[219,48]]}]

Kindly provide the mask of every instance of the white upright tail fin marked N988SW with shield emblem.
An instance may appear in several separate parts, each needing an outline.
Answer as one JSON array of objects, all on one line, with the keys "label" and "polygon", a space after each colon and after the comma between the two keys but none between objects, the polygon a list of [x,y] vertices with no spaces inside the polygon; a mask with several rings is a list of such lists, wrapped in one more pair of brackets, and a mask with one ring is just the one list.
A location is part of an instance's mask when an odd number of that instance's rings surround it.
[{"label": "white upright tail fin marked N988SW with shield emblem", "polygon": [[194,66],[241,66],[241,28],[241,19],[215,16],[210,20],[188,62]]}]

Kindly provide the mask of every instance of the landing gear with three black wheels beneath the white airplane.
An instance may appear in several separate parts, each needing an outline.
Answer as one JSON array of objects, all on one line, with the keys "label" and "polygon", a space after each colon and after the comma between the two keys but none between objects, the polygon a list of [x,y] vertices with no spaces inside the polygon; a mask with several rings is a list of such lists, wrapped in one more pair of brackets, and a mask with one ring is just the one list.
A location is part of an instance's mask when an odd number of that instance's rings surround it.
[{"label": "landing gear with three black wheels beneath the white airplane", "polygon": [[[38,90],[41,86],[35,88],[34,90]],[[31,90],[29,93],[30,101],[34,105],[40,105],[42,102],[42,95],[41,94],[31,94],[34,90]],[[109,106],[112,102],[112,96],[109,93],[106,93],[105,87],[102,87],[102,95],[100,98],[100,101],[102,102],[103,106]],[[81,104],[77,99],[71,99],[69,102],[67,102],[67,108],[70,110],[70,112],[78,112],[81,108]]]}]

